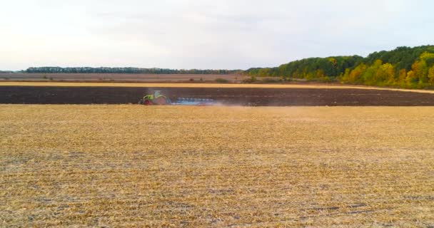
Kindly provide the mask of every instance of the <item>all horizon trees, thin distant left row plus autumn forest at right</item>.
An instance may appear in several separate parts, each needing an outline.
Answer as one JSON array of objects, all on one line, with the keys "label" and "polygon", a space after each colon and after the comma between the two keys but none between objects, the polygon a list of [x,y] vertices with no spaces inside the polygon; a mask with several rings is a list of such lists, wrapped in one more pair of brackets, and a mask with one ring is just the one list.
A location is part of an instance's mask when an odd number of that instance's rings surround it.
[{"label": "all horizon trees, thin distant left row plus autumn forest at right", "polygon": [[434,88],[434,46],[398,47],[392,51],[361,56],[304,58],[278,67],[241,70],[175,70],[164,68],[28,68],[27,73],[151,73],[151,74],[233,74],[256,77],[274,76],[285,80],[338,81],[368,86]]}]

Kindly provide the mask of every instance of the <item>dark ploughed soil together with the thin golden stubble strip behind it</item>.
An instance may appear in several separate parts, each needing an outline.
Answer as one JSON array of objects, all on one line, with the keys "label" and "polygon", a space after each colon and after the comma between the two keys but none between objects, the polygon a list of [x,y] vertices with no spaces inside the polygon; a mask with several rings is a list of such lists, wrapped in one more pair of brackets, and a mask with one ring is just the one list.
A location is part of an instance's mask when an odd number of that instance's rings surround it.
[{"label": "dark ploughed soil together with the thin golden stubble strip behind it", "polygon": [[433,106],[433,90],[363,86],[194,83],[0,83],[0,103],[127,104],[161,90],[171,100],[210,98],[248,106]]}]

